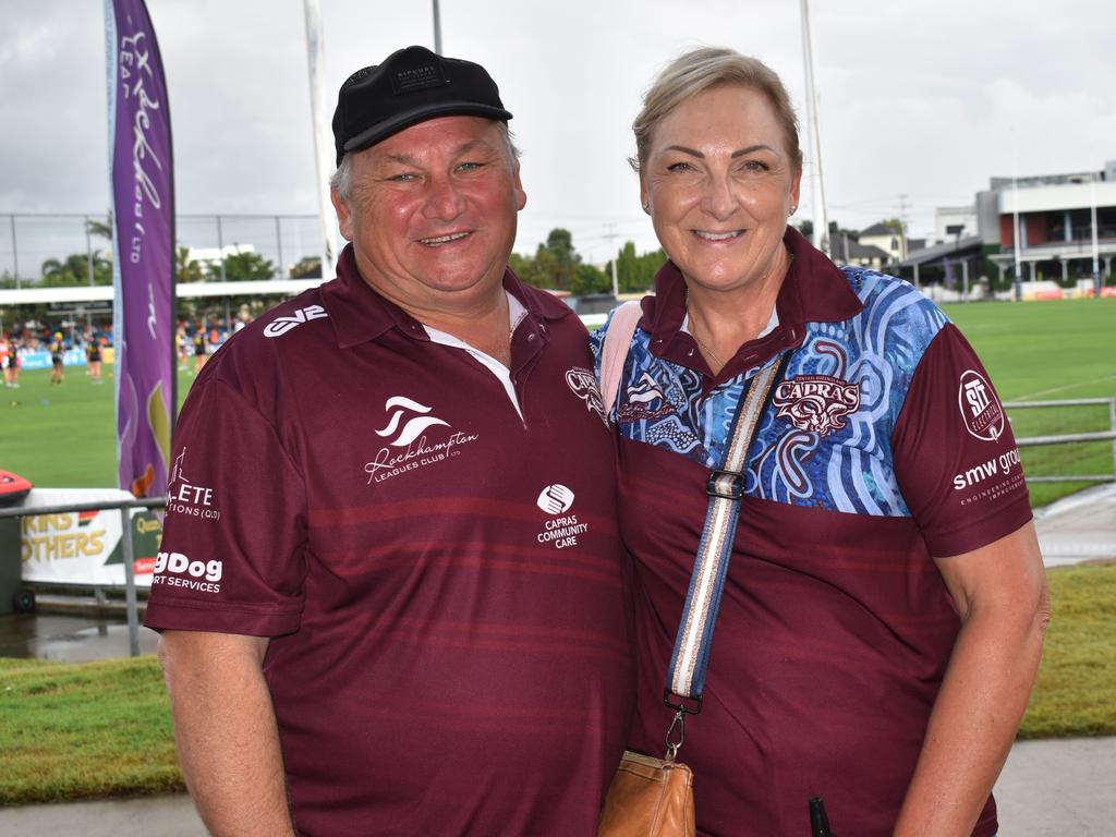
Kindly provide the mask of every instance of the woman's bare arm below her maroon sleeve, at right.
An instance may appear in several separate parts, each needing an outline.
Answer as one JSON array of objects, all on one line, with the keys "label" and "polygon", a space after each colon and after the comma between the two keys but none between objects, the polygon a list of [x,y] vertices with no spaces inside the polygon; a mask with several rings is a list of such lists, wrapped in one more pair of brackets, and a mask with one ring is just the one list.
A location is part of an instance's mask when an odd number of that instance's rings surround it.
[{"label": "woman's bare arm below her maroon sleeve, at right", "polygon": [[896,837],[972,833],[1027,709],[1050,618],[1033,523],[935,562],[961,616],[961,633]]}]

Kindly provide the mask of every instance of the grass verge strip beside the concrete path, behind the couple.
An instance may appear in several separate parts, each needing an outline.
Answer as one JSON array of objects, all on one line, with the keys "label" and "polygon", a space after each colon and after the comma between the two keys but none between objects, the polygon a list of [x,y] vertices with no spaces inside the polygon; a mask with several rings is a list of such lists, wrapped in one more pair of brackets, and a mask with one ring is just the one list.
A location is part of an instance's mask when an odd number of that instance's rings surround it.
[{"label": "grass verge strip beside the concrete path, behind the couple", "polygon": [[[1020,738],[1116,734],[1116,565],[1048,574],[1054,617]],[[184,789],[153,656],[0,658],[0,805]]]}]

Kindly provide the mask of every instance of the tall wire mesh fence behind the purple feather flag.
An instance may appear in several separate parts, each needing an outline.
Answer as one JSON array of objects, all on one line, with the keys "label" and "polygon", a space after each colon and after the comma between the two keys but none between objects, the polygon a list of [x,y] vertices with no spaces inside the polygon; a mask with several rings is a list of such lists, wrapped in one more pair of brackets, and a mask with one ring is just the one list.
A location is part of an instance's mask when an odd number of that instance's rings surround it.
[{"label": "tall wire mesh fence behind the purple feather flag", "polygon": [[[112,241],[95,231],[90,222],[105,224],[106,215],[79,213],[0,214],[0,279],[16,288],[37,285],[49,259],[84,260],[83,283],[94,283],[98,257],[112,250]],[[175,217],[175,247],[220,253],[228,248],[251,249],[276,266],[273,279],[290,278],[291,268],[321,252],[317,215],[220,214]],[[214,279],[221,280],[220,266]]]}]

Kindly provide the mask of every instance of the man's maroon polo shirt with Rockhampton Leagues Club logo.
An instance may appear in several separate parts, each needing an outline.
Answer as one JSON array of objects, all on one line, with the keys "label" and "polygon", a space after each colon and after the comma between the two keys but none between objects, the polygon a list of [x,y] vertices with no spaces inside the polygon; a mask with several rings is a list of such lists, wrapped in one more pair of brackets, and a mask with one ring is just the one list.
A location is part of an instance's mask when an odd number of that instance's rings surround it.
[{"label": "man's maroon polo shirt with Rockhampton Leagues Club logo", "polygon": [[632,663],[585,328],[506,275],[517,410],[338,275],[194,384],[146,624],[271,637],[302,834],[593,834]]}]

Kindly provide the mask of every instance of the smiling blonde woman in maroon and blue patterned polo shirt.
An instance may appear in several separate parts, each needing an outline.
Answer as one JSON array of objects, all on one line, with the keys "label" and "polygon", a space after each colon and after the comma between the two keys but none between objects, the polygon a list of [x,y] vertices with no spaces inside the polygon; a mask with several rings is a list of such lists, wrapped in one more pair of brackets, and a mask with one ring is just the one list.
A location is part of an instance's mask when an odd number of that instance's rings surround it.
[{"label": "smiling blonde woman in maroon and blue patterned polo shirt", "polygon": [[670,261],[612,413],[637,577],[629,747],[663,751],[710,471],[750,379],[782,363],[679,757],[699,833],[806,835],[821,796],[839,835],[994,834],[990,792],[1048,604],[988,375],[910,285],[838,269],[788,227],[802,154],[764,65],[684,55],[634,129],[643,209]]}]

